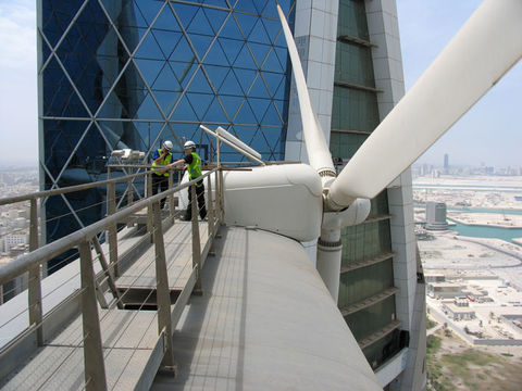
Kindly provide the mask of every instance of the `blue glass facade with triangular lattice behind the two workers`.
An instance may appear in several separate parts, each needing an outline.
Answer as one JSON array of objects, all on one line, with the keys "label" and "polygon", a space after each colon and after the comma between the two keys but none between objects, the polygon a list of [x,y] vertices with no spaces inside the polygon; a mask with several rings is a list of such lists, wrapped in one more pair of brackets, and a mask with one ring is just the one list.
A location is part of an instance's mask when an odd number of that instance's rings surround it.
[{"label": "blue glass facade with triangular lattice behind the two workers", "polygon": [[[290,73],[276,3],[293,26],[295,0],[40,0],[45,189],[102,179],[114,149],[147,163],[166,139],[210,160],[200,124],[283,160]],[[102,217],[103,200],[48,200],[47,241]]]}]

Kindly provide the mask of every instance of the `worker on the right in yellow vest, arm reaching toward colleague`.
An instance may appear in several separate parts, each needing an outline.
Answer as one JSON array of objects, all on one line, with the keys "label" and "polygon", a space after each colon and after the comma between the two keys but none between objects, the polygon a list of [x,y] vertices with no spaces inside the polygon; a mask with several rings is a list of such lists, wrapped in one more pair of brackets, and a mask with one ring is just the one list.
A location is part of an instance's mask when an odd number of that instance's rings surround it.
[{"label": "worker on the right in yellow vest, arm reaching toward colleague", "polygon": [[[197,179],[201,176],[201,157],[196,153],[196,144],[194,141],[187,141],[183,146],[185,149],[185,156],[171,163],[170,166],[176,166],[185,164],[188,173],[188,180]],[[204,185],[203,180],[198,180],[196,182],[196,194],[198,199],[199,216],[201,219],[204,219],[207,216],[207,209],[204,206]],[[185,216],[182,218],[185,222],[188,222],[192,218],[192,186],[188,188],[188,206],[185,212]]]}]

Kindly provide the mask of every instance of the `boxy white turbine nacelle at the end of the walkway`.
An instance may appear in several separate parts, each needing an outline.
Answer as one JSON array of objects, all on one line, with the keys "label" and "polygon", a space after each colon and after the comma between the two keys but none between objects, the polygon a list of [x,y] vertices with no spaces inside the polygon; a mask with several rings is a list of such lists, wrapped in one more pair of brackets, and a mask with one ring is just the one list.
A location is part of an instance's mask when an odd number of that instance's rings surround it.
[{"label": "boxy white turbine nacelle at the end of the walkway", "polygon": [[306,164],[224,172],[225,223],[300,241],[316,239],[323,213],[321,178]]}]

